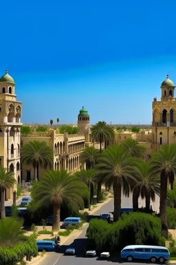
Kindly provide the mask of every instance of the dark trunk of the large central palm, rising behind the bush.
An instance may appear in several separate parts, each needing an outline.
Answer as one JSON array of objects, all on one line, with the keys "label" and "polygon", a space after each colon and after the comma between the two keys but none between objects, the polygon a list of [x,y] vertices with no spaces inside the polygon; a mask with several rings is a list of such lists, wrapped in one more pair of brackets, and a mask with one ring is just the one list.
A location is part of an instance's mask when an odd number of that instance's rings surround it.
[{"label": "dark trunk of the large central palm, rising behind the bush", "polygon": [[121,185],[116,180],[113,181],[113,222],[117,222],[120,217],[121,209]]}]

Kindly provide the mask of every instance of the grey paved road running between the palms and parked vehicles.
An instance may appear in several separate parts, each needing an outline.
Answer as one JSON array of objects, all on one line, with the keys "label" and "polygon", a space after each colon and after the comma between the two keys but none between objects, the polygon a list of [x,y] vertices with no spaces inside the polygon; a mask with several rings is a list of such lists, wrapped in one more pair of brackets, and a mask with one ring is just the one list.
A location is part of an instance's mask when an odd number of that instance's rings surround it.
[{"label": "grey paved road running between the palms and parked vehicles", "polygon": [[[142,201],[140,200],[140,205],[142,205]],[[122,198],[122,207],[128,207],[132,206],[131,198]],[[158,208],[158,205],[155,205],[155,208]],[[107,204],[104,204],[99,210],[97,210],[94,214],[95,215],[100,215],[101,213],[109,213],[113,211],[113,199]],[[49,253],[47,257],[44,259],[43,262],[41,262],[40,265],[95,265],[100,264],[100,265],[107,265],[109,262],[115,262],[118,264],[123,264],[123,265],[129,265],[129,262],[122,262],[122,260],[105,260],[105,259],[100,259],[99,257],[83,257],[83,249],[85,247],[85,242],[86,242],[86,230],[87,230],[88,224],[86,224],[83,228],[83,232],[80,234],[80,236],[76,239],[69,238],[65,242],[65,244],[62,246],[63,249],[69,247],[74,247],[76,249],[76,255],[75,256],[68,256],[68,255],[63,255],[60,253]],[[145,264],[150,264],[147,262],[144,262]],[[130,263],[131,265],[135,264],[144,264],[144,263]]]}]

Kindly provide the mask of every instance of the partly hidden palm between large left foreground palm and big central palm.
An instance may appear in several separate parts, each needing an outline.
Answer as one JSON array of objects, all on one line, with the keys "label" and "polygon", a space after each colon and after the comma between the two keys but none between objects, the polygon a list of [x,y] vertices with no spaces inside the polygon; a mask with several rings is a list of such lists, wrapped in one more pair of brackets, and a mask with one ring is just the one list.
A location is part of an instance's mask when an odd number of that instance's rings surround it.
[{"label": "partly hidden palm between large left foreground palm and big central palm", "polygon": [[94,197],[94,184],[96,182],[96,175],[97,172],[95,169],[83,169],[75,173],[75,176],[78,177],[78,179],[80,179],[81,181],[83,181],[89,188],[90,204],[92,203],[92,199]]}]

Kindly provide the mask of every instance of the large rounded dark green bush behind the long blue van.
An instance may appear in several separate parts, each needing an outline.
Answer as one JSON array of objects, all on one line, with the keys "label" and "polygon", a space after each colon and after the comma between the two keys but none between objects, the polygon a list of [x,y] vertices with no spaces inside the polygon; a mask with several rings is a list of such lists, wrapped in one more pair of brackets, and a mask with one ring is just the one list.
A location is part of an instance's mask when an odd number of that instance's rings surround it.
[{"label": "large rounded dark green bush behind the long blue van", "polygon": [[91,247],[100,251],[121,251],[124,246],[135,244],[162,245],[161,223],[158,217],[146,213],[124,214],[118,222],[109,224],[92,219],[87,229]]}]

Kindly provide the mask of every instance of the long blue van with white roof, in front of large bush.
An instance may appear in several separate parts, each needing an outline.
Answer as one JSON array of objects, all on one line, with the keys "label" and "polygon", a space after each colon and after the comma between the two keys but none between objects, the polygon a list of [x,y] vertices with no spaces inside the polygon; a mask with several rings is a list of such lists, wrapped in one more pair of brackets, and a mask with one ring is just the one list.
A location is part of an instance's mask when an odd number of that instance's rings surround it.
[{"label": "long blue van with white roof, in front of large bush", "polygon": [[122,249],[121,257],[128,262],[133,259],[149,259],[152,263],[163,263],[170,258],[170,253],[164,246],[131,245]]}]

